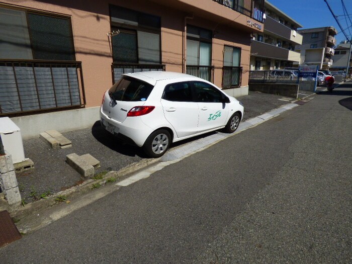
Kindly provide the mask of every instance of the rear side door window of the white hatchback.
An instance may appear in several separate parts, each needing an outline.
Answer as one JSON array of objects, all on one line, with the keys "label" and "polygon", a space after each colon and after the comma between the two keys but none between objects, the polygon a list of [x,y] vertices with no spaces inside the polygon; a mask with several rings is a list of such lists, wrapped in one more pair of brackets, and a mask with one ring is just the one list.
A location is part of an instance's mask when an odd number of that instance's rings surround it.
[{"label": "rear side door window of the white hatchback", "polygon": [[174,102],[191,102],[191,87],[188,82],[168,84],[165,87],[162,99]]}]

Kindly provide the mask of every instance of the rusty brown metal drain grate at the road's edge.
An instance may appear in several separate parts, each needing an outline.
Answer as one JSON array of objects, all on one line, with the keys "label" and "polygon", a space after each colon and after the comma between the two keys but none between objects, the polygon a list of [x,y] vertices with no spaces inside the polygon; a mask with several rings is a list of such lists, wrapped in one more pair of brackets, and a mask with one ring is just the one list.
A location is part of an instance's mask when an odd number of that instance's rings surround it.
[{"label": "rusty brown metal drain grate at the road's edge", "polygon": [[8,211],[0,212],[0,247],[21,238],[20,232],[12,221]]}]

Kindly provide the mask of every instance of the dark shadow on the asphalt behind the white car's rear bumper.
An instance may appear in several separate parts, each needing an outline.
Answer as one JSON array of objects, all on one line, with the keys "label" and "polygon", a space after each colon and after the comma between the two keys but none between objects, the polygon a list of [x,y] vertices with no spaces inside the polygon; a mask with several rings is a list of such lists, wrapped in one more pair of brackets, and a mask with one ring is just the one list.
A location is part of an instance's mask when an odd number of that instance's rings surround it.
[{"label": "dark shadow on the asphalt behind the white car's rear bumper", "polygon": [[94,123],[92,127],[92,135],[100,143],[110,148],[111,150],[119,152],[120,154],[124,154],[131,157],[136,155],[142,158],[146,157],[144,152],[141,150],[141,148],[126,144],[122,142],[120,139],[118,139],[117,137],[113,136],[112,134],[109,134],[109,132],[107,132],[100,125],[100,121],[97,121],[96,123]]}]

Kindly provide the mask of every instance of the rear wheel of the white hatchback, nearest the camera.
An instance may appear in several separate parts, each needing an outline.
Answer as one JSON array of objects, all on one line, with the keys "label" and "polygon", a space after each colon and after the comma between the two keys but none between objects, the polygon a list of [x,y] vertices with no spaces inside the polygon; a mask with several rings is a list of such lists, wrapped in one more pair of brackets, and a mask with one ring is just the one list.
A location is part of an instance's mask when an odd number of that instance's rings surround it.
[{"label": "rear wheel of the white hatchback, nearest the camera", "polygon": [[161,157],[165,154],[170,143],[170,133],[165,129],[159,129],[149,135],[143,145],[143,150],[149,157]]}]

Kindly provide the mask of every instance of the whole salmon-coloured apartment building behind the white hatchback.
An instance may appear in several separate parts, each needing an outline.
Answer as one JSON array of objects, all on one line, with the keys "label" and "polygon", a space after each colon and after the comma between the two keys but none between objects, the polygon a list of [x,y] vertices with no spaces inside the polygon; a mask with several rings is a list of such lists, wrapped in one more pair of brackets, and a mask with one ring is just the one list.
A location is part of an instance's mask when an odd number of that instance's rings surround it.
[{"label": "whole salmon-coloured apartment building behind the white hatchback", "polygon": [[24,138],[89,127],[121,74],[144,70],[245,95],[262,18],[263,0],[0,1],[0,117]]}]

